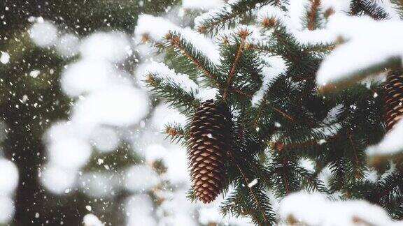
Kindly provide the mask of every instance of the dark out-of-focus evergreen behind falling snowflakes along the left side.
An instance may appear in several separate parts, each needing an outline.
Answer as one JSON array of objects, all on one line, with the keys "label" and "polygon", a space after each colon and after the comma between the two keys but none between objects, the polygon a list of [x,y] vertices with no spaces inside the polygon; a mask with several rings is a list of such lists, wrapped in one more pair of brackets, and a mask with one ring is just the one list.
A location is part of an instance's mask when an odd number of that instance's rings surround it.
[{"label": "dark out-of-focus evergreen behind falling snowflakes along the left side", "polygon": [[[176,2],[0,2],[0,50],[10,55],[8,63],[0,63],[0,115],[8,126],[8,139],[3,147],[6,158],[13,160],[20,171],[12,225],[80,225],[85,205],[78,208],[76,203],[88,201],[81,193],[52,195],[38,182],[45,160],[43,133],[50,123],[66,118],[71,100],[64,96],[58,82],[68,62],[52,50],[31,43],[27,32],[30,18],[43,17],[78,36],[111,30],[132,33],[139,13],[164,12]],[[113,225],[117,225],[123,218],[114,220]]]}]

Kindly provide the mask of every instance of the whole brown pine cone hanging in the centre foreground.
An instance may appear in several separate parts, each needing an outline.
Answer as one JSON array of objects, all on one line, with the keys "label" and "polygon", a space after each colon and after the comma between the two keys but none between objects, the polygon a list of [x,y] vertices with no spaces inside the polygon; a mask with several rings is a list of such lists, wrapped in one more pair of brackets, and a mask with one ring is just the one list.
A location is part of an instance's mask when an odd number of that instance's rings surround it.
[{"label": "whole brown pine cone hanging in the centre foreground", "polygon": [[197,108],[190,124],[188,160],[193,189],[201,202],[212,202],[222,190],[231,131],[227,106],[206,100]]}]

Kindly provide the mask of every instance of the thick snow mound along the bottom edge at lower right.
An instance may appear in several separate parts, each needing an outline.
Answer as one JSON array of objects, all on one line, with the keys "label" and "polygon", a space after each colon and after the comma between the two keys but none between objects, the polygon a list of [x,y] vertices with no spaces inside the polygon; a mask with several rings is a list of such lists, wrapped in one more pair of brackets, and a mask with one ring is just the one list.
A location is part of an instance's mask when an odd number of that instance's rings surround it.
[{"label": "thick snow mound along the bottom edge at lower right", "polygon": [[390,220],[381,207],[369,202],[330,201],[319,193],[294,193],[279,208],[281,220],[291,225],[400,225]]}]

